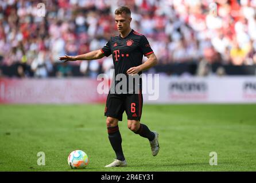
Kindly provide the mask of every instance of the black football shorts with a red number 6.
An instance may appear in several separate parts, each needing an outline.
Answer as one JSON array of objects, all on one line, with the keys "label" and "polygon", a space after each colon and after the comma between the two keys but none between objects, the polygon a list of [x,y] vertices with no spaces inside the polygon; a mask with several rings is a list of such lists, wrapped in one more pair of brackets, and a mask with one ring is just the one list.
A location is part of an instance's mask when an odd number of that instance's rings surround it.
[{"label": "black football shorts with a red number 6", "polygon": [[122,121],[123,112],[127,120],[141,120],[143,97],[138,94],[108,94],[105,107],[105,116]]}]

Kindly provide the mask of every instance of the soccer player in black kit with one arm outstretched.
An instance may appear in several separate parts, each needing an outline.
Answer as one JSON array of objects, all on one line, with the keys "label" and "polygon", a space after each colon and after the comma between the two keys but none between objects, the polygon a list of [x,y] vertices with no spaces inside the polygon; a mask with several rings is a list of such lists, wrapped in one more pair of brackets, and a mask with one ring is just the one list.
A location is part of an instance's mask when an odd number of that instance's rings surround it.
[{"label": "soccer player in black kit with one arm outstretched", "polygon": [[[112,36],[110,41],[100,50],[76,56],[65,55],[59,59],[65,61],[92,60],[108,57],[112,54],[115,69],[114,75],[125,74],[128,78],[131,75],[142,74],[143,70],[156,65],[157,58],[149,45],[148,39],[131,29],[131,19],[130,9],[126,6],[119,7],[115,10],[115,23],[120,33],[119,35]],[[144,63],[142,63],[143,55],[148,57]],[[113,82],[117,84],[119,81],[114,80]],[[148,126],[140,123],[143,102],[141,79],[136,84],[139,85],[139,88],[136,91],[133,88],[133,93],[130,93],[130,88],[124,93],[118,93],[117,91],[108,93],[104,115],[107,117],[108,139],[117,158],[105,167],[127,166],[122,150],[122,137],[118,129],[118,121],[122,121],[123,112],[127,114],[128,128],[135,134],[148,138],[152,155],[156,156],[160,150],[158,133],[150,131]]]}]

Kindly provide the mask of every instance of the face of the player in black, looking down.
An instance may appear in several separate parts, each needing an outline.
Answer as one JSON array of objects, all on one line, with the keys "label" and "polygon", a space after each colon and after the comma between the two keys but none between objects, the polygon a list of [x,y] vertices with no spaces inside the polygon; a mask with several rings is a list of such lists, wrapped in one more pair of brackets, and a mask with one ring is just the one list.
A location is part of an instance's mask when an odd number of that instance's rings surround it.
[{"label": "face of the player in black, looking down", "polygon": [[126,13],[115,15],[115,24],[119,32],[125,32],[130,28],[131,17]]}]

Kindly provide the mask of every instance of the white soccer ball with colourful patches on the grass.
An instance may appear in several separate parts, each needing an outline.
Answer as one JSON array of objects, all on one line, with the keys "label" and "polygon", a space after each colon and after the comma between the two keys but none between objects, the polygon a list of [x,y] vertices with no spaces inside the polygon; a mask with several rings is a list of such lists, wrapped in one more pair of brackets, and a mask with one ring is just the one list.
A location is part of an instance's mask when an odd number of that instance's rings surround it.
[{"label": "white soccer ball with colourful patches on the grass", "polygon": [[72,169],[84,169],[88,165],[88,156],[83,150],[74,150],[68,156],[68,165]]}]

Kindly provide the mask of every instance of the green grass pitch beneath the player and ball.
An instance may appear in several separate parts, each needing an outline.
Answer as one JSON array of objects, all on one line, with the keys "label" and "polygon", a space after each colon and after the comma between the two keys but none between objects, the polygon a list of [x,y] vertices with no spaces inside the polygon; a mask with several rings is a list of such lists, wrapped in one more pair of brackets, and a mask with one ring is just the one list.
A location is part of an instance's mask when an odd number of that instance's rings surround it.
[{"label": "green grass pitch beneath the player and ball", "polygon": [[[149,141],[119,123],[125,168],[104,168],[115,158],[107,137],[104,105],[0,105],[0,171],[255,171],[256,105],[144,105],[141,122],[159,134]],[[67,157],[84,150],[86,169]],[[45,166],[37,165],[38,152]],[[210,152],[218,154],[211,166]]]}]

